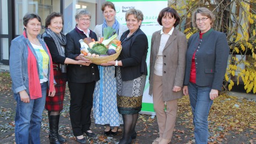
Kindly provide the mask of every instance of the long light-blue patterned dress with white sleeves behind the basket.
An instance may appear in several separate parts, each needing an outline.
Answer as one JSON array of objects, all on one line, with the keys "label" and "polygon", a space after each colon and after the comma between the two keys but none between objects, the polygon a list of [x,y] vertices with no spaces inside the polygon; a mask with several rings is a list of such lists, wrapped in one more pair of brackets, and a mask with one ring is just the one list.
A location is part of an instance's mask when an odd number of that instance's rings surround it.
[{"label": "long light-blue patterned dress with white sleeves behind the basket", "polygon": [[[118,39],[126,25],[119,26]],[[97,37],[102,36],[102,25],[96,25],[94,32]],[[120,126],[123,124],[122,115],[117,110],[115,66],[99,66],[100,80],[96,82],[93,98],[93,117],[96,126]]]}]

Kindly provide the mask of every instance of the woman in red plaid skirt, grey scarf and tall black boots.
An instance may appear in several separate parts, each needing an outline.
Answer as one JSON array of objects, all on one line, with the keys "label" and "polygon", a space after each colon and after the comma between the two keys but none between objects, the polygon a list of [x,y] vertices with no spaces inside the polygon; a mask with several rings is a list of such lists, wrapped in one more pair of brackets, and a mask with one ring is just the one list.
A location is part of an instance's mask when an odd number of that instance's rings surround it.
[{"label": "woman in red plaid skirt, grey scarf and tall black boots", "polygon": [[66,140],[58,134],[59,114],[63,109],[63,100],[66,88],[66,64],[86,65],[84,60],[74,60],[65,57],[66,37],[62,33],[63,17],[59,12],[52,12],[46,18],[46,31],[42,37],[46,42],[54,67],[54,79],[56,81],[54,97],[46,97],[46,106],[48,110],[50,134],[50,143],[63,143]]}]

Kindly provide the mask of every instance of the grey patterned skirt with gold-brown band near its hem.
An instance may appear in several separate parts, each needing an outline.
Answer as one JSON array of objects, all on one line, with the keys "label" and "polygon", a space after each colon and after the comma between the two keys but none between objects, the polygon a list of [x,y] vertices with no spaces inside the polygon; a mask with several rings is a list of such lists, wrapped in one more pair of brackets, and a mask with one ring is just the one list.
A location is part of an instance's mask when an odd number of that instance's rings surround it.
[{"label": "grey patterned skirt with gold-brown band near its hem", "polygon": [[146,84],[146,75],[129,81],[122,81],[120,67],[117,67],[117,108],[122,115],[139,113],[142,95]]}]

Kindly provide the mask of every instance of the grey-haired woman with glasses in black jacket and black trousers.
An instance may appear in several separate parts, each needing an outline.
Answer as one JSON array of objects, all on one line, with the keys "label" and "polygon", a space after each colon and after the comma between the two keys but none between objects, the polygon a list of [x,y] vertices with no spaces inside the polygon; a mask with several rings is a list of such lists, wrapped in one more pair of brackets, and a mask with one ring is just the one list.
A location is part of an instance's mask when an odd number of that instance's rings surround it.
[{"label": "grey-haired woman with glasses in black jacket and black trousers", "polygon": [[92,64],[84,55],[80,54],[80,39],[91,37],[97,41],[96,34],[88,27],[91,22],[91,13],[86,9],[79,9],[75,15],[76,28],[66,34],[66,57],[76,60],[85,60],[84,65],[69,64],[67,66],[67,81],[70,90],[70,120],[74,136],[80,143],[86,143],[83,133],[88,137],[96,137],[90,130],[91,111],[93,106],[93,92],[95,81],[100,79],[97,65]]}]

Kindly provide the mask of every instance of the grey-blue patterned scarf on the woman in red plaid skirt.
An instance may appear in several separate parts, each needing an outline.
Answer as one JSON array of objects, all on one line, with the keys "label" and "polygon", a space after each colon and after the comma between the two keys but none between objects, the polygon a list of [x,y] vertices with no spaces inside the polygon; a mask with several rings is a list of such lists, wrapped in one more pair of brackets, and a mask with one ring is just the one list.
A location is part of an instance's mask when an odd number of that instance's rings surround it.
[{"label": "grey-blue patterned scarf on the woman in red plaid skirt", "polygon": [[[61,36],[57,35],[56,33],[52,32],[50,28],[46,28],[46,33],[49,34],[52,39],[54,39],[54,43],[58,48],[59,55],[65,57],[65,52],[62,46],[66,45],[66,36],[61,32]],[[66,64],[61,64],[62,73],[66,73]]]}]

